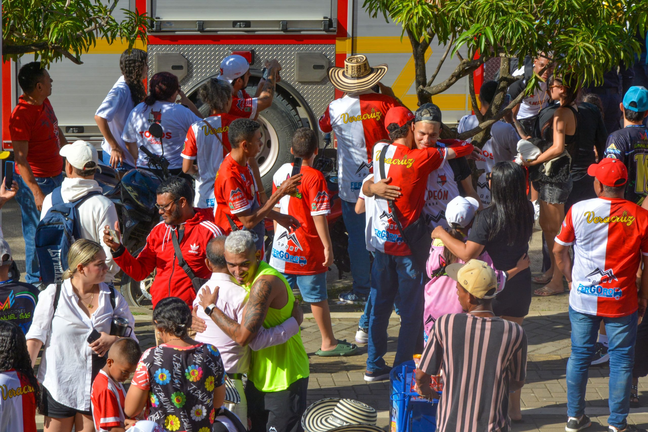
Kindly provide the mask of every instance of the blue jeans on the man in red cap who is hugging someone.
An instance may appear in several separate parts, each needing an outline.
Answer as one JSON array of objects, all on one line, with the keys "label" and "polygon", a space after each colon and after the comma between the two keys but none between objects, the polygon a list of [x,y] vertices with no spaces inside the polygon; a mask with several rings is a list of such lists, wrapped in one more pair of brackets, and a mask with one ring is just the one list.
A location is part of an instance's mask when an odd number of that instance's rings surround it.
[{"label": "blue jeans on the man in red cap who is hugging someone", "polygon": [[[375,252],[371,269],[371,315],[367,370],[386,366],[389,316],[397,294],[400,296],[400,331],[394,365],[411,360],[417,348],[423,347],[424,274],[416,269],[411,256],[393,256]],[[421,351],[419,351],[421,352]]]}]

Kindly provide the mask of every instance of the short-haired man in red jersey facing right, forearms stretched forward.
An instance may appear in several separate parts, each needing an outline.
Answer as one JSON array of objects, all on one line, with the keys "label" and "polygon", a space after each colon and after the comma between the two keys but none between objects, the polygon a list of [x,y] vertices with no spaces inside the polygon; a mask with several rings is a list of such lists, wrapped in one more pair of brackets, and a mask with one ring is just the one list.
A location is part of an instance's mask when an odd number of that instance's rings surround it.
[{"label": "short-haired man in red jersey facing right, forearms stretched forward", "polygon": [[[261,205],[259,188],[248,163],[259,153],[261,125],[250,119],[236,119],[229,125],[229,143],[232,151],[225,157],[216,173],[214,182],[214,221],[226,234],[236,230],[248,230],[255,239],[257,250],[264,250],[266,228],[263,220],[268,217],[281,226],[294,230],[299,227],[297,219],[282,215],[273,208],[279,199],[293,193],[299,185],[297,174],[284,182],[266,202]],[[263,255],[263,254],[262,254]]]}]

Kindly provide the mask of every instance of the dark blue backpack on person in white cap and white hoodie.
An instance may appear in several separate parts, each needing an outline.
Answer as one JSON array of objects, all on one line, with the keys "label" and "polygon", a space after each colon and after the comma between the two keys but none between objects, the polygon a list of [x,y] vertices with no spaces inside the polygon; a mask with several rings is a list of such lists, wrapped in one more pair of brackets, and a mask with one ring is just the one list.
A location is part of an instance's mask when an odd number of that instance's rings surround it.
[{"label": "dark blue backpack on person in white cap and white hoodie", "polygon": [[76,201],[63,202],[61,187],[52,191],[52,206],[36,226],[36,256],[40,263],[41,282],[45,285],[61,282],[67,269],[67,252],[72,243],[81,238],[76,207],[98,191],[88,193]]}]

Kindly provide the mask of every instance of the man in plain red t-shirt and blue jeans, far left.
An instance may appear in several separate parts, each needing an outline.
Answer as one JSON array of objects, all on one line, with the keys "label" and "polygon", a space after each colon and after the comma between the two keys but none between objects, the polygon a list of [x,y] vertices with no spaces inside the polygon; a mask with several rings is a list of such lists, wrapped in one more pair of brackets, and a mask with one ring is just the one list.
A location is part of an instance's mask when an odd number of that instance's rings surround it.
[{"label": "man in plain red t-shirt and blue jeans, far left", "polygon": [[18,72],[18,84],[23,95],[9,118],[9,133],[16,160],[14,178],[19,186],[16,200],[26,240],[25,280],[38,285],[40,269],[33,239],[45,195],[63,182],[63,158],[58,151],[67,140],[47,99],[52,94],[52,78],[47,69],[40,62],[26,64]]}]

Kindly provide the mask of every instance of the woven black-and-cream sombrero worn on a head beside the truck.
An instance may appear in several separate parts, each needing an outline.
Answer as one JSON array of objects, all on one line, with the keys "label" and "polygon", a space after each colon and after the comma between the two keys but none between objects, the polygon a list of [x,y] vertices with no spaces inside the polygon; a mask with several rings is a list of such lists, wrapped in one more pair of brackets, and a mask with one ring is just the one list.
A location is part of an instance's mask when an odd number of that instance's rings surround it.
[{"label": "woven black-and-cream sombrero worn on a head beside the truck", "polygon": [[329,67],[327,74],[333,86],[341,91],[353,93],[367,90],[378,84],[387,73],[387,65],[369,66],[367,57],[358,54],[344,60],[344,67]]}]

